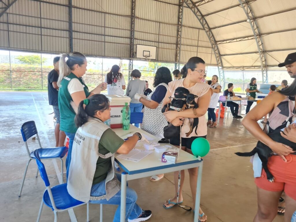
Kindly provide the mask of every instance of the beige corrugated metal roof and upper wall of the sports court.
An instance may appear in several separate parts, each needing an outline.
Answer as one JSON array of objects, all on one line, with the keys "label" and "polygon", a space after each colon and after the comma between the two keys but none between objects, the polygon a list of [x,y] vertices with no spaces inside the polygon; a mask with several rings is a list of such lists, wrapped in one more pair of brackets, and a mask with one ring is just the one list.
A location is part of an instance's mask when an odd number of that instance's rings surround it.
[{"label": "beige corrugated metal roof and upper wall of the sports court", "polygon": [[[73,50],[88,55],[129,57],[131,0],[73,0],[72,3]],[[9,36],[11,49],[69,51],[67,4],[68,0],[16,1],[0,17],[0,47],[8,47]],[[179,0],[136,0],[134,44],[157,46],[157,60],[175,61],[178,4]],[[197,5],[206,15],[205,20],[216,41],[253,36],[247,16],[237,0],[198,2]],[[254,16],[259,17],[258,31],[263,34],[266,65],[277,65],[276,60],[283,61],[293,50],[270,51],[296,48],[296,1],[257,0],[252,1],[250,7]],[[285,30],[290,31],[283,32]],[[207,64],[216,65],[207,33],[186,5],[181,44],[181,62],[191,56],[200,56]],[[218,49],[225,55],[222,58],[225,67],[260,67],[255,39],[219,44]],[[255,53],[241,55],[249,52]]]}]

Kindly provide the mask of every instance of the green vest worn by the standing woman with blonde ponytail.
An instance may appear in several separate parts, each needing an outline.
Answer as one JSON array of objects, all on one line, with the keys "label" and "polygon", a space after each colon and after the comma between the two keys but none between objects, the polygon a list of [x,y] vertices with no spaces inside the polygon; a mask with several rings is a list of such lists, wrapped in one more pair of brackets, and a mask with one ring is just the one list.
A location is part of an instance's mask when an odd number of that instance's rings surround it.
[{"label": "green vest worn by the standing woman with blonde ponytail", "polygon": [[74,123],[75,111],[70,105],[70,101],[73,101],[69,91],[68,84],[71,79],[78,79],[83,85],[84,93],[86,98],[89,96],[89,88],[85,85],[82,78],[78,78],[73,73],[65,76],[61,81],[61,86],[59,87],[59,112],[60,112],[60,127],[59,129],[67,133],[76,133],[77,127]]}]

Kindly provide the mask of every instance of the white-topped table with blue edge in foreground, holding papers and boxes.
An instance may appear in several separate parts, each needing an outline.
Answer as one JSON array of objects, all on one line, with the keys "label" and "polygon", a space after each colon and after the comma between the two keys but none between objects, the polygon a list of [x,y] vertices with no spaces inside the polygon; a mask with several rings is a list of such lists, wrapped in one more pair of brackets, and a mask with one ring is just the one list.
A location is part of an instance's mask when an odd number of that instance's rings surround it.
[{"label": "white-topped table with blue edge in foreground, holding papers and boxes", "polygon": [[[129,130],[123,130],[121,128],[113,129],[113,131],[120,137],[127,136],[128,134],[141,132],[149,137],[155,139],[153,141],[158,141],[155,136],[144,132],[143,130],[131,125]],[[141,142],[143,143],[143,142]],[[136,147],[137,149],[144,149],[143,146]],[[173,145],[171,145],[173,146]],[[120,165],[120,167],[124,170],[121,175],[121,203],[120,203],[120,222],[125,222],[125,212],[126,212],[126,181],[139,179],[143,177],[148,177],[152,175],[157,175],[161,173],[170,173],[179,170],[185,170],[190,168],[198,167],[198,177],[197,177],[197,187],[196,187],[196,199],[195,199],[195,214],[194,214],[194,222],[198,222],[198,213],[200,206],[200,189],[202,182],[202,164],[203,160],[198,160],[197,157],[185,152],[184,150],[180,150],[178,160],[176,164],[168,164],[161,162],[162,153],[157,153],[153,151],[144,159],[139,162],[132,162],[128,160],[124,160],[121,158],[116,158],[119,154],[115,154],[115,161]],[[173,191],[175,192],[175,190]],[[153,195],[153,194],[152,194]]]}]

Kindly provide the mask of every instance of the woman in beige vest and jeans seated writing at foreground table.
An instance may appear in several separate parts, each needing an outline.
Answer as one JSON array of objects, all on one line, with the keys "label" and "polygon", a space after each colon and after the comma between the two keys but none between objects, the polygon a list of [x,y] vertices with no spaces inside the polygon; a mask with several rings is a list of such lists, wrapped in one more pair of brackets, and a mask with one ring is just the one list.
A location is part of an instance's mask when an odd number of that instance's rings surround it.
[{"label": "woman in beige vest and jeans seated writing at foreground table", "polygon": [[[138,140],[136,132],[124,141],[104,121],[110,118],[107,97],[96,94],[84,99],[78,107],[75,124],[78,128],[72,148],[67,190],[76,200],[96,204],[119,205],[113,221],[120,221],[121,175],[114,173],[114,153],[128,154]],[[136,204],[136,192],[126,188],[126,220],[148,220],[152,212]]]}]

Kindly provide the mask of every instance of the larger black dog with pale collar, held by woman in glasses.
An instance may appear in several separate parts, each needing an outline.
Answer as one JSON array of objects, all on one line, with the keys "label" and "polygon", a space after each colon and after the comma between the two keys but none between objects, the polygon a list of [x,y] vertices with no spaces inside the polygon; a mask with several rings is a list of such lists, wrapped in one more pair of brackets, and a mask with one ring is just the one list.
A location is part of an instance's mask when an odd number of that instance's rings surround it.
[{"label": "larger black dog with pale collar, held by woman in glasses", "polygon": [[[172,99],[171,103],[168,103],[166,106],[163,107],[161,112],[165,112],[166,108],[168,110],[177,110],[181,111],[187,108],[186,104],[186,96],[189,94],[189,90],[184,87],[178,87],[175,90],[174,96],[175,98]],[[168,143],[168,139],[171,139],[175,136],[180,134],[180,127],[174,126],[173,124],[169,123],[168,126],[163,128],[163,136],[165,139],[158,141],[159,143]]]}]

